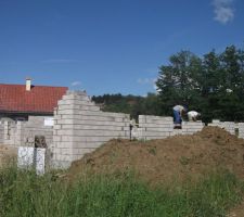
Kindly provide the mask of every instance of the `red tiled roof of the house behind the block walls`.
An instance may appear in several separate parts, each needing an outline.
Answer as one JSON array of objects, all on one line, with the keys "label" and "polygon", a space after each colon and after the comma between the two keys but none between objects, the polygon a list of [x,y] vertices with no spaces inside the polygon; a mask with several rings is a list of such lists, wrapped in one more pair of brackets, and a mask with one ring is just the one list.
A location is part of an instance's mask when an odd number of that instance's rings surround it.
[{"label": "red tiled roof of the house behind the block walls", "polygon": [[66,87],[33,86],[26,91],[25,85],[0,84],[0,111],[52,113],[66,90]]}]

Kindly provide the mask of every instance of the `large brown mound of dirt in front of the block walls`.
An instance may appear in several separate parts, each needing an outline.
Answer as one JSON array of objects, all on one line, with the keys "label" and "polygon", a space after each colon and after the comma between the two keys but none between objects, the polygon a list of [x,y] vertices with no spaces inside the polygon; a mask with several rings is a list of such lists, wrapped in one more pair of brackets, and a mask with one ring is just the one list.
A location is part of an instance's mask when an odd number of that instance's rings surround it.
[{"label": "large brown mound of dirt in front of the block walls", "polygon": [[192,136],[142,141],[111,140],[72,164],[68,177],[87,170],[114,174],[136,170],[150,183],[198,178],[227,168],[244,178],[244,140],[218,127],[205,127]]}]

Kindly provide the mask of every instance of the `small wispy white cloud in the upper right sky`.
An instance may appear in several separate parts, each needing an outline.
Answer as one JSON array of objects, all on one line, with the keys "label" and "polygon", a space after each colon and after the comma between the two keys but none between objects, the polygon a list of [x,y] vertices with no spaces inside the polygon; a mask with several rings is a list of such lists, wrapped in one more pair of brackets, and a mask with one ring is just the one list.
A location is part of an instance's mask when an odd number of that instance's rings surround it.
[{"label": "small wispy white cloud in the upper right sky", "polygon": [[213,0],[215,7],[215,20],[221,24],[231,22],[234,18],[233,0]]}]

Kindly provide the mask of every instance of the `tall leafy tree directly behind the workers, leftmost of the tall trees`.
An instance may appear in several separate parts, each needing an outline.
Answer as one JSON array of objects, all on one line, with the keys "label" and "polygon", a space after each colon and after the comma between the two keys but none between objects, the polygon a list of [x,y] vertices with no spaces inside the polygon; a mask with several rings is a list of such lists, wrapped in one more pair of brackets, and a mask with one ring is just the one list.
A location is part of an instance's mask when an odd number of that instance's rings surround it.
[{"label": "tall leafy tree directly behind the workers, leftmost of the tall trees", "polygon": [[189,107],[201,102],[202,60],[189,51],[169,58],[169,65],[159,67],[156,86],[162,101],[162,111],[171,114],[176,104]]}]

